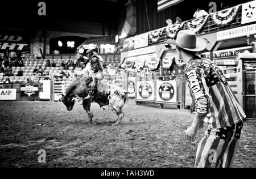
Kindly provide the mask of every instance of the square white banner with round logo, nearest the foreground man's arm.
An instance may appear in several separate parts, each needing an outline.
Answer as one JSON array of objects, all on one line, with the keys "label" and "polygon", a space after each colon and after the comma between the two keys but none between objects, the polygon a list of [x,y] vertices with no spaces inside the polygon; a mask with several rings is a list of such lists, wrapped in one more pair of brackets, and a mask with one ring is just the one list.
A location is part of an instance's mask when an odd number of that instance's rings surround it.
[{"label": "square white banner with round logo, nearest the foreground man's arm", "polygon": [[177,80],[156,80],[156,102],[177,103]]}]

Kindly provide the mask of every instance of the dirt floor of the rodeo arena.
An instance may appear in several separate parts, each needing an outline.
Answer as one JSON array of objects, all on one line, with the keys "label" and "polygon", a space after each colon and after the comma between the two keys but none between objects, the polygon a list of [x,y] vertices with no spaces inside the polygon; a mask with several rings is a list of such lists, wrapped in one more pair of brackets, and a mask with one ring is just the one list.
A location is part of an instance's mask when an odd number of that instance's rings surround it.
[{"label": "dirt floor of the rodeo arena", "polygon": [[[82,105],[68,112],[60,102],[0,103],[0,167],[193,167],[196,147],[183,131],[191,124],[188,110],[159,105],[126,104],[125,117],[92,104],[94,120]],[[233,167],[256,167],[256,121],[247,121]],[[206,127],[206,125],[205,125]],[[46,163],[39,163],[39,150]]]}]

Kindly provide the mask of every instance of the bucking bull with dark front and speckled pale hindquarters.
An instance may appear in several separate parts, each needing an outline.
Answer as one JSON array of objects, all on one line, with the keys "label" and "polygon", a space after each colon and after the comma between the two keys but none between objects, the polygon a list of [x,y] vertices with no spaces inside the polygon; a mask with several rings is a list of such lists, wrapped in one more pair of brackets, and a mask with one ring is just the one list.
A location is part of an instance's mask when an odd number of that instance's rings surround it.
[{"label": "bucking bull with dark front and speckled pale hindquarters", "polygon": [[[84,99],[84,97],[88,95],[88,90],[92,87],[94,87],[93,99]],[[82,106],[86,110],[90,122],[92,122],[93,119],[93,113],[90,112],[92,100],[98,103],[100,108],[109,105],[110,109],[118,116],[113,125],[118,125],[123,116],[125,116],[122,112],[122,107],[125,105],[127,93],[129,92],[109,84],[108,82],[104,82],[104,80],[97,82],[97,79],[92,77],[80,77],[76,78],[75,81],[68,86],[65,95],[61,94],[62,97],[60,101],[65,104],[67,110],[72,110],[77,99],[82,99]]]}]

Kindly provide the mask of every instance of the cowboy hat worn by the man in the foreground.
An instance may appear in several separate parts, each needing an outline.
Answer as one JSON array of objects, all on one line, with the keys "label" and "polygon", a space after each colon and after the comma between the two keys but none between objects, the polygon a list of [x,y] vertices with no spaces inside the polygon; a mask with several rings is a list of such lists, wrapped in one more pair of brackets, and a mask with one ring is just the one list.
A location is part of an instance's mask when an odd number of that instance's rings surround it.
[{"label": "cowboy hat worn by the man in the foreground", "polygon": [[177,33],[176,41],[168,39],[167,44],[179,46],[192,52],[200,52],[205,49],[206,42],[203,39],[196,37],[196,33],[190,30],[181,30]]}]

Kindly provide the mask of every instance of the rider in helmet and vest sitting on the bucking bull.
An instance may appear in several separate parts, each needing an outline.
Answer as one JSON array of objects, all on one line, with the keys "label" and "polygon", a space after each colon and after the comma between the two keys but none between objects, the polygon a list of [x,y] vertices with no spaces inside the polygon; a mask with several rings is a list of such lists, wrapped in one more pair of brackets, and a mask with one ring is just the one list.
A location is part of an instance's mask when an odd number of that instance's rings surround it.
[{"label": "rider in helmet and vest sitting on the bucking bull", "polygon": [[[103,79],[103,66],[99,56],[96,52],[93,52],[93,50],[89,49],[86,51],[86,57],[88,58],[88,63],[83,69],[85,76],[96,78],[96,82],[99,82]],[[96,85],[97,84],[90,88],[88,96],[86,96],[84,99],[90,99],[93,97],[92,95]]]}]

